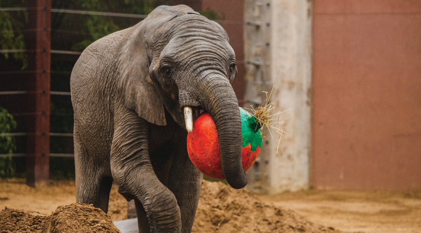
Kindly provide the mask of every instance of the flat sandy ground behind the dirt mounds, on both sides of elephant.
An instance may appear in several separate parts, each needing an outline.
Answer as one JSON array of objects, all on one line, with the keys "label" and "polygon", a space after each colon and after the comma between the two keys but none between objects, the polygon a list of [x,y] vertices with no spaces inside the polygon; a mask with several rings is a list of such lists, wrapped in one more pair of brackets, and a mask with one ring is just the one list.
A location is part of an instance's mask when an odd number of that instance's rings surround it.
[{"label": "flat sandy ground behind the dirt mounds, on both sides of elephant", "polygon": [[[261,199],[294,210],[310,221],[347,232],[420,233],[421,192],[319,191],[261,195]],[[75,202],[74,182],[51,182],[32,188],[23,179],[0,180],[0,207],[52,214]],[[125,218],[125,199],[113,186],[108,215]]]}]

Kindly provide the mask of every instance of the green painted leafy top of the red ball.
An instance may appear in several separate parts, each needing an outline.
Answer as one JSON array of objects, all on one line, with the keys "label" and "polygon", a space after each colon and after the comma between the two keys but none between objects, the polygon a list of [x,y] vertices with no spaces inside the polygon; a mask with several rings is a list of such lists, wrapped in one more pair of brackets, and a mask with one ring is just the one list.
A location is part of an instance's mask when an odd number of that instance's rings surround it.
[{"label": "green painted leafy top of the red ball", "polygon": [[[247,112],[243,108],[240,108],[240,116],[241,135],[243,136],[242,147],[244,148],[247,145],[251,144],[252,152],[254,152],[257,147],[262,148],[262,136],[260,135],[260,125],[256,123],[256,118],[253,117],[249,112]],[[252,118],[249,119],[250,117]]]}]

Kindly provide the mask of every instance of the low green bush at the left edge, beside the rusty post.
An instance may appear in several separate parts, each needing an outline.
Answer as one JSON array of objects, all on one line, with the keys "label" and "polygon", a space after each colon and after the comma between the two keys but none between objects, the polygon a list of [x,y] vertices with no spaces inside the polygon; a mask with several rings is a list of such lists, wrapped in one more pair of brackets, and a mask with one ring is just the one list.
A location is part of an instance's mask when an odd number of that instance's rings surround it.
[{"label": "low green bush at the left edge, beside the rusty post", "polygon": [[[9,133],[16,128],[16,121],[7,110],[0,107],[0,133]],[[12,154],[16,150],[14,138],[0,136],[0,154]],[[14,174],[14,166],[11,157],[0,157],[0,177],[11,177]]]}]

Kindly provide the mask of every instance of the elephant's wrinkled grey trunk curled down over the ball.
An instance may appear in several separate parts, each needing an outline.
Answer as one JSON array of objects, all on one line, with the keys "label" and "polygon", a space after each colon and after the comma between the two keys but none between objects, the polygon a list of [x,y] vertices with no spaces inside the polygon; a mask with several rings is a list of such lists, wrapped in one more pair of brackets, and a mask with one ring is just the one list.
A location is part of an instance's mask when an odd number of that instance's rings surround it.
[{"label": "elephant's wrinkled grey trunk curled down over the ball", "polygon": [[207,75],[201,84],[203,107],[209,112],[218,132],[222,172],[233,188],[247,184],[241,158],[241,118],[238,100],[228,79]]}]

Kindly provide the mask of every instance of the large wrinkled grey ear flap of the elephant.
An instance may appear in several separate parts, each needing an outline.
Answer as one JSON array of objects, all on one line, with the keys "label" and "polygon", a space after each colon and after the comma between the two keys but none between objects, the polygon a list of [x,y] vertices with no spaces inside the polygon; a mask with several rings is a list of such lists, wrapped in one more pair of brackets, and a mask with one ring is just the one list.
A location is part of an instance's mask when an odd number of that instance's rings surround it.
[{"label": "large wrinkled grey ear flap of the elephant", "polygon": [[132,28],[131,36],[120,51],[116,84],[127,108],[151,123],[165,125],[164,106],[149,76],[150,61],[142,24],[145,22]]}]

